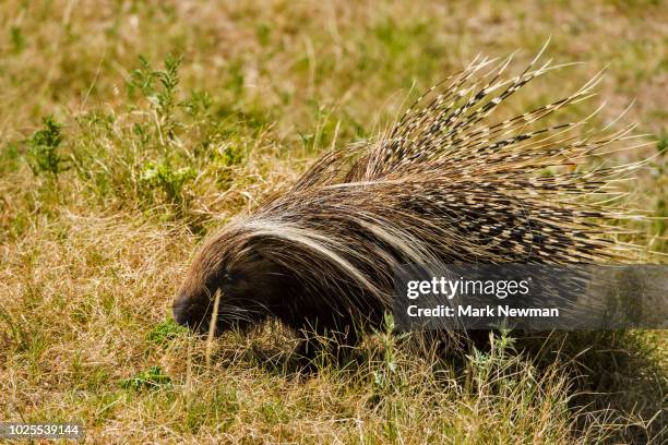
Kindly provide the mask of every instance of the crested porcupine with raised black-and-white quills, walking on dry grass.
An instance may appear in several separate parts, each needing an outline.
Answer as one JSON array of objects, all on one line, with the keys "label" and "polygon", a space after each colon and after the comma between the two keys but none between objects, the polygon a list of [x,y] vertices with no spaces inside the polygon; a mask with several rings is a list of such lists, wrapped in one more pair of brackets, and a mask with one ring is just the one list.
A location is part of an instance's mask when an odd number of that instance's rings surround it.
[{"label": "crested porcupine with raised black-and-white quills, walking on dry grass", "polygon": [[582,161],[632,139],[632,127],[586,129],[592,116],[536,125],[593,96],[600,74],[564,98],[490,122],[520,88],[563,67],[539,59],[505,79],[512,57],[477,58],[375,142],[322,156],[287,193],[203,243],[175,320],[207,332],[219,289],[216,333],[267,317],[318,333],[377,327],[392,310],[402,264],[623,261],[628,246],[609,224],[623,211],[603,200],[634,166]]}]

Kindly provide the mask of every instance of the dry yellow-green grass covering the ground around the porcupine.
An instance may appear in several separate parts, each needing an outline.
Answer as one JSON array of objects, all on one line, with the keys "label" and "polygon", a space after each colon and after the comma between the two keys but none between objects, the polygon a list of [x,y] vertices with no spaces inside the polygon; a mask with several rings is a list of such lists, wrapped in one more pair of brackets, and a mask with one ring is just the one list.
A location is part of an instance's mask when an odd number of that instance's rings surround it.
[{"label": "dry yellow-green grass covering the ground around the porcupine", "polygon": [[[666,217],[661,1],[8,1],[0,9],[0,419],[80,420],[91,443],[661,443],[664,332],[494,337],[410,353],[391,329],[299,374],[270,324],[206,345],[169,320],[212,228],[285,190],[322,151],[375,134],[478,52],[601,68],[605,125],[653,156],[624,205]],[[587,116],[599,98],[563,119]],[[667,252],[666,224],[634,222]],[[536,345],[542,345],[537,348]]]}]

